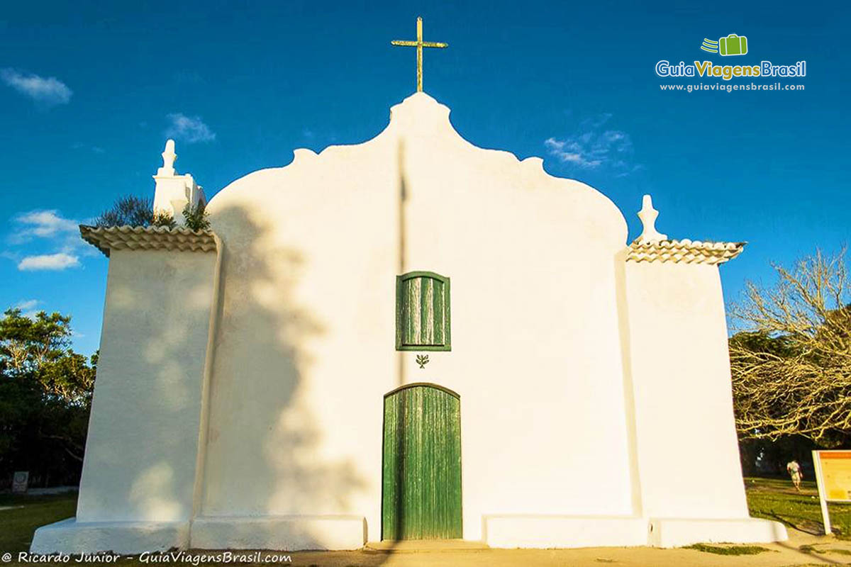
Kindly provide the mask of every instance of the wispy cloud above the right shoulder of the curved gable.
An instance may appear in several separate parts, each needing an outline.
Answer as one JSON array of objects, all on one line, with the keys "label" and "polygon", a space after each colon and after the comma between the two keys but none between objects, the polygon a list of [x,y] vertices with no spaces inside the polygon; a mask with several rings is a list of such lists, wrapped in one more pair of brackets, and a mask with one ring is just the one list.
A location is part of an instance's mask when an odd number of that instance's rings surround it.
[{"label": "wispy cloud above the right shoulder of the curved gable", "polygon": [[611,117],[607,113],[585,119],[577,132],[563,138],[545,139],[544,146],[551,156],[574,167],[610,167],[619,177],[636,171],[641,166],[630,163],[632,141],[629,134],[603,128]]}]

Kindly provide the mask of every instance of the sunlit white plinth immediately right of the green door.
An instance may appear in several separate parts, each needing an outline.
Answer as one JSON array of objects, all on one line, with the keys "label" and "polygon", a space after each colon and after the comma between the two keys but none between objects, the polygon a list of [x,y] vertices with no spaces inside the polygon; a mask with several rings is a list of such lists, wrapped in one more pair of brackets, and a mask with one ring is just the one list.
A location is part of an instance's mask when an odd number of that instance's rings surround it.
[{"label": "sunlit white plinth immediately right of the green door", "polygon": [[490,547],[620,547],[647,545],[647,519],[616,516],[483,516]]}]

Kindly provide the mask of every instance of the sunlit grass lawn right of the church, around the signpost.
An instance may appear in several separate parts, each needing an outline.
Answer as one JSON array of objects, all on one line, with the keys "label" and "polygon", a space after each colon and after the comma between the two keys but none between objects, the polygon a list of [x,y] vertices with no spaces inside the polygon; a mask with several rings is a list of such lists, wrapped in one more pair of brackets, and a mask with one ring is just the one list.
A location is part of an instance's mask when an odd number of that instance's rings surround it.
[{"label": "sunlit grass lawn right of the church, around the signpost", "polygon": [[[795,490],[788,479],[745,479],[751,516],[774,519],[809,533],[823,533],[819,490],[815,482],[802,482]],[[833,533],[851,539],[851,504],[831,504]]]}]

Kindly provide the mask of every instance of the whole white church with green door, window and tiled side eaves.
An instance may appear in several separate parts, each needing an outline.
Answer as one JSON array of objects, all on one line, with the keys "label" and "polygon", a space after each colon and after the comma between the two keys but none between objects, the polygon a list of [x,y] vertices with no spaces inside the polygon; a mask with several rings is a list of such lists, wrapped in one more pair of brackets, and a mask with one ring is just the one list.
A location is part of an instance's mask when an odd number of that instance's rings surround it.
[{"label": "whole white church with green door, window and tiled side eaves", "polygon": [[[204,201],[163,154],[155,202]],[[296,150],[211,230],[82,227],[109,259],[77,515],[37,552],[778,541],[751,519],[718,265],[417,93]]]}]

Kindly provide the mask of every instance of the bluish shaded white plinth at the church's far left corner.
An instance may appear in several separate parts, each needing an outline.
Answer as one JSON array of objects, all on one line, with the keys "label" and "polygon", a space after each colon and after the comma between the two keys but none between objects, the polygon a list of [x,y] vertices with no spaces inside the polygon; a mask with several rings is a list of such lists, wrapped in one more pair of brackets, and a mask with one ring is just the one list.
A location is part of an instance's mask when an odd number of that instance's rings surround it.
[{"label": "bluish shaded white plinth at the church's far left corner", "polygon": [[189,522],[77,522],[43,525],[32,536],[32,553],[129,554],[186,548]]}]

